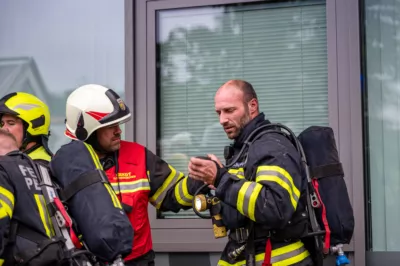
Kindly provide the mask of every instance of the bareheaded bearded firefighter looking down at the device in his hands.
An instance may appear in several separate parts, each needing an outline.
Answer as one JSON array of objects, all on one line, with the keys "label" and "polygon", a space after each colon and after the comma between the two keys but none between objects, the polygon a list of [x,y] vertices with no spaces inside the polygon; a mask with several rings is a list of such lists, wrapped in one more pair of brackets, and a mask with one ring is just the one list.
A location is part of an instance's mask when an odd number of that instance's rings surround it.
[{"label": "bareheaded bearded firefighter looking down at the device in his hands", "polygon": [[[259,112],[252,85],[243,80],[230,80],[217,90],[215,110],[233,140],[227,164],[255,129],[270,123]],[[209,157],[191,158],[188,168],[191,178],[214,186],[222,202],[229,241],[218,265],[313,265],[299,240],[307,226],[306,178],[289,139],[264,134],[229,169],[215,155]]]}]

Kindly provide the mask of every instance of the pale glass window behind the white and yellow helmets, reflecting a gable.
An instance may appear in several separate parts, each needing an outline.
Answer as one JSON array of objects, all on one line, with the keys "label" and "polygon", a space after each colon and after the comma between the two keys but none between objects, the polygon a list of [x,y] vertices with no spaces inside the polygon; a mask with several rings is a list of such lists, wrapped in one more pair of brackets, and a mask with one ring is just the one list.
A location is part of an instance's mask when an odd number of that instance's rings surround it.
[{"label": "pale glass window behind the white and yellow helmets, reflecting a gable", "polygon": [[0,1],[0,96],[33,93],[51,111],[50,148],[64,136],[65,101],[80,85],[124,92],[124,1]]}]

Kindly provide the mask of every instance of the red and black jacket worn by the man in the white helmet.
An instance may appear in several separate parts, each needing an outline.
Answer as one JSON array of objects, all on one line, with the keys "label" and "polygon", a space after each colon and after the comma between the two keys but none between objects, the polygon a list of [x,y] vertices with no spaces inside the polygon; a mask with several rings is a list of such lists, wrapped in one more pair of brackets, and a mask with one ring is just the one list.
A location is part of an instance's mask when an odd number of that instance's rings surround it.
[{"label": "red and black jacket worn by the man in the white helmet", "polygon": [[194,193],[203,185],[135,142],[121,141],[119,151],[101,162],[135,232],[126,261],[152,250],[149,202],[160,211],[189,209]]}]

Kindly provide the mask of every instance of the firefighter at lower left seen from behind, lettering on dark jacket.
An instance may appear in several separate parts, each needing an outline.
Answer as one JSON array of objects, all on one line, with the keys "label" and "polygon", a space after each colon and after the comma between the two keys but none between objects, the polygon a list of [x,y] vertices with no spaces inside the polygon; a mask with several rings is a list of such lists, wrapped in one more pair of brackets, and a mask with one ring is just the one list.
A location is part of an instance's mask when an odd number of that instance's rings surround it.
[{"label": "firefighter at lower left seen from behind, lettering on dark jacket", "polygon": [[54,237],[33,163],[19,145],[0,129],[0,265],[58,265],[62,240]]}]

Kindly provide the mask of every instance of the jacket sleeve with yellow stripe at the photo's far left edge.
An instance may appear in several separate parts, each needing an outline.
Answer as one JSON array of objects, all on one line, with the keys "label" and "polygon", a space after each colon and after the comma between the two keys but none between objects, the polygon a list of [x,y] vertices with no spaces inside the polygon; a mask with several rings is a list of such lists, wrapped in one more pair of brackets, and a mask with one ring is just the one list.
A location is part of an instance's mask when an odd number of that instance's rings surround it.
[{"label": "jacket sleeve with yellow stripe at the photo's far left edge", "polygon": [[5,172],[0,169],[0,255],[6,245],[6,234],[14,211],[14,188]]}]

